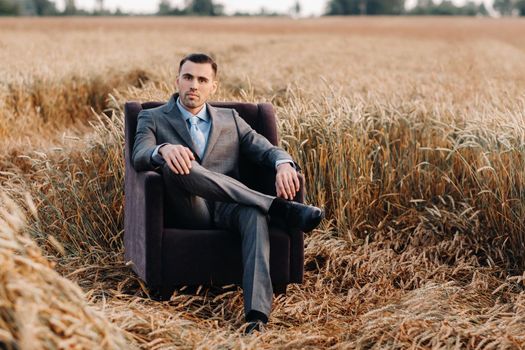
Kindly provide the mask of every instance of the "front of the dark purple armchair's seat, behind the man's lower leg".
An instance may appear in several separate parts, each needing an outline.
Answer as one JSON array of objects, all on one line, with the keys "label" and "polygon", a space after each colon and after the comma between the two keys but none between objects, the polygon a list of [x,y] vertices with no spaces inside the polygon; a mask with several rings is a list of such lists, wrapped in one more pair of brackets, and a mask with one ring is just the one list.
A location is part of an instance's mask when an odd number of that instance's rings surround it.
[{"label": "front of the dark purple armchair's seat, behind the man's lower leg", "polygon": [[[270,275],[273,284],[290,281],[290,236],[270,227]],[[241,284],[239,233],[224,230],[165,228],[162,275],[169,285]]]}]

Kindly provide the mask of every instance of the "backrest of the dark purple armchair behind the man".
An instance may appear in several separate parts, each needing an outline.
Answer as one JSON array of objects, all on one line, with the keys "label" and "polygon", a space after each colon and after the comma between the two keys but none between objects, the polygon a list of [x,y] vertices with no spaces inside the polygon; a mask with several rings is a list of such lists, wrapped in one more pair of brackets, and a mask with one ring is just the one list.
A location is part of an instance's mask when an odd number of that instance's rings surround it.
[{"label": "backrest of the dark purple armchair behind the man", "polygon": [[[155,108],[165,102],[127,102],[124,106],[125,117],[125,152],[126,168],[131,167],[131,154],[135,133],[137,131],[137,117],[142,109]],[[259,134],[263,135],[273,145],[279,143],[279,134],[273,106],[270,103],[242,103],[242,102],[211,102],[212,106],[235,109],[239,115]],[[275,194],[273,180],[261,181],[261,172],[267,173],[258,165],[241,158],[239,173],[241,180],[251,188],[268,194]]]}]

